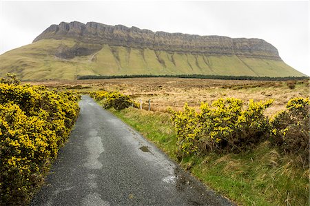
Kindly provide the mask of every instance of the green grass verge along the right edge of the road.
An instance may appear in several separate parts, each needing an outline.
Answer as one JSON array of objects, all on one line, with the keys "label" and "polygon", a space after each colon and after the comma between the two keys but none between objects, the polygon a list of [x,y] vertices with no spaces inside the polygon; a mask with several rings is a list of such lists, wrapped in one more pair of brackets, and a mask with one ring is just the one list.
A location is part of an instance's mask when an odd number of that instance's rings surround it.
[{"label": "green grass verge along the right edge of the road", "polygon": [[[176,134],[169,114],[128,108],[110,110],[176,160]],[[185,158],[185,169],[238,205],[309,205],[309,169],[266,141],[242,154]]]}]

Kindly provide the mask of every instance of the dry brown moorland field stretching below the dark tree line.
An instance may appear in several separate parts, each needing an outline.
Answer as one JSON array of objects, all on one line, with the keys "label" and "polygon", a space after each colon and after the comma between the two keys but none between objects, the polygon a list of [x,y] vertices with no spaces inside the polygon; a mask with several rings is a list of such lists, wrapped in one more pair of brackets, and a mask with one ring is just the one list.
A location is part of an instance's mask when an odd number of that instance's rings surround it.
[{"label": "dry brown moorland field stretching below the dark tree line", "polygon": [[[129,94],[132,99],[141,99],[144,107],[150,99],[153,111],[165,111],[167,107],[181,110],[185,102],[197,110],[203,101],[234,97],[247,103],[249,99],[261,101],[274,99],[269,116],[283,110],[289,99],[297,96],[309,97],[309,81],[240,81],[214,79],[135,78],[101,79],[79,81],[27,82],[46,85],[60,90],[82,90],[85,92],[107,90]],[[289,86],[294,88],[289,88]]]}]

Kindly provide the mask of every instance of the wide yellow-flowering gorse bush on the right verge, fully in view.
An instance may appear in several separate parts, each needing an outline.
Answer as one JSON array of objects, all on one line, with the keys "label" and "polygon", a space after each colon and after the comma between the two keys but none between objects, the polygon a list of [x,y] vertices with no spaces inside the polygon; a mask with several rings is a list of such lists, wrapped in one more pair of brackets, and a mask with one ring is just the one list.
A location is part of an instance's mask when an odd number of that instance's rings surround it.
[{"label": "wide yellow-flowering gorse bush on the right verge, fully in view", "polygon": [[177,133],[178,156],[203,155],[207,152],[242,152],[259,143],[268,133],[268,119],[263,115],[273,100],[249,101],[246,110],[239,99],[218,99],[202,103],[200,114],[185,104],[184,112],[172,113]]}]

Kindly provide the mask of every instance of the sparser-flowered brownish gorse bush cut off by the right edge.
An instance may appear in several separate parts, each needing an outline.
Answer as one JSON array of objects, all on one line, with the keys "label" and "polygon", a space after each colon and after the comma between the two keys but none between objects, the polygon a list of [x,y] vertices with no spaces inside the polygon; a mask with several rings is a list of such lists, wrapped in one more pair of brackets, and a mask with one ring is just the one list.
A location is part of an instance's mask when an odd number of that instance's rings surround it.
[{"label": "sparser-flowered brownish gorse bush cut off by the right edge", "polygon": [[271,140],[286,154],[296,154],[309,167],[309,98],[296,97],[271,120]]}]

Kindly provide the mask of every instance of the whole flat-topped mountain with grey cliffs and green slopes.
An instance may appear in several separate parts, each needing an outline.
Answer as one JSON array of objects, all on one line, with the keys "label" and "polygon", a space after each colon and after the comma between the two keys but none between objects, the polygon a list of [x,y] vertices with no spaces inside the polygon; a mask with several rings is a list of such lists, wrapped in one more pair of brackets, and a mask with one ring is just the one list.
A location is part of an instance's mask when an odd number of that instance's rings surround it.
[{"label": "whole flat-topped mountain with grey cliffs and green slopes", "polygon": [[0,75],[23,80],[83,75],[207,74],[305,76],[262,39],[152,32],[73,21],[51,25],[33,43],[0,55]]}]

